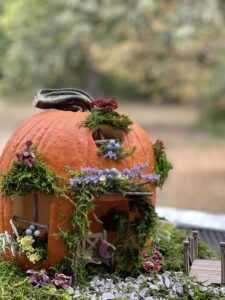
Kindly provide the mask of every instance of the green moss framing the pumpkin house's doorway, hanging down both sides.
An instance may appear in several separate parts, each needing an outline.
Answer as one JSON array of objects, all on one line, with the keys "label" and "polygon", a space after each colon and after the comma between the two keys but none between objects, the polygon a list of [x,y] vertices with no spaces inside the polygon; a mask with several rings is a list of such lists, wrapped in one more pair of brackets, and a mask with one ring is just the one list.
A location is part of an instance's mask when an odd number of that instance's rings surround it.
[{"label": "green moss framing the pumpkin house's doorway, hanging down both sides", "polygon": [[[75,179],[84,174],[71,171],[70,175]],[[68,259],[71,261],[72,274],[74,274],[74,277],[77,276],[77,283],[85,284],[85,280],[87,280],[85,265],[91,262],[91,255],[88,256],[88,259],[85,256],[84,259],[83,251],[77,251],[77,247],[81,238],[89,234],[91,222],[89,216],[95,208],[93,198],[108,193],[123,195],[126,191],[149,192],[150,189],[137,185],[134,180],[120,179],[116,176],[104,183],[74,183],[71,189],[71,199],[75,206],[75,212],[71,218],[73,230],[72,232],[60,230],[59,236],[64,240],[70,251],[71,256]],[[135,220],[129,223],[127,216],[115,215],[115,229],[118,237],[115,241],[117,272],[122,275],[134,274],[140,271],[140,253],[146,241],[153,237],[156,222],[155,208],[150,202],[149,196],[129,198],[130,209],[137,212]]]}]

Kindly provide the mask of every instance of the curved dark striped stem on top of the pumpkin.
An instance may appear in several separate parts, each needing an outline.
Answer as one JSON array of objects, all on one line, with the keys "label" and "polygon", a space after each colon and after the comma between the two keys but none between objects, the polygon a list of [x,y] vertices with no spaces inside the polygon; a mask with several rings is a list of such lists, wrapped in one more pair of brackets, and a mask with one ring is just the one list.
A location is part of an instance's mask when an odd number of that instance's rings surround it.
[{"label": "curved dark striped stem on top of the pumpkin", "polygon": [[90,111],[92,101],[91,95],[79,89],[45,89],[35,95],[33,105],[43,109]]}]

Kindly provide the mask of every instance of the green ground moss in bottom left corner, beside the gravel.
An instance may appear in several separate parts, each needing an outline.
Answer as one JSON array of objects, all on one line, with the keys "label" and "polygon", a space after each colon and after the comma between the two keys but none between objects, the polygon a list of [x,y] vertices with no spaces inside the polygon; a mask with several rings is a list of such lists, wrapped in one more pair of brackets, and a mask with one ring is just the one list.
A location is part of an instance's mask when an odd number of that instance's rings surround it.
[{"label": "green ground moss in bottom left corner, beside the gravel", "polygon": [[70,300],[70,295],[54,285],[34,288],[28,277],[16,265],[0,260],[1,300]]}]

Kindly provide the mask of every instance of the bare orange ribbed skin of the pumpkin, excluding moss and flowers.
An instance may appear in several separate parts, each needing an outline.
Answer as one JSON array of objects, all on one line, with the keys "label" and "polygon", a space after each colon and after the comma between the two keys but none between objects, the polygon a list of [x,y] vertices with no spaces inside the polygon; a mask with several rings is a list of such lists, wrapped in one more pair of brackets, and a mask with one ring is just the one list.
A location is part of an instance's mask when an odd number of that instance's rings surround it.
[{"label": "bare orange ribbed skin of the pumpkin, excluding moss and flowers", "polygon": [[[64,178],[68,178],[65,167],[71,167],[74,170],[80,170],[81,167],[86,166],[101,169],[115,167],[118,170],[123,170],[124,168],[130,169],[134,165],[145,163],[146,161],[149,162],[146,172],[153,172],[154,153],[152,143],[148,134],[138,124],[134,123],[129,133],[120,131],[125,147],[130,149],[132,146],[136,146],[136,151],[132,156],[121,161],[112,161],[98,155],[98,147],[93,140],[92,131],[81,126],[81,122],[88,115],[89,112],[47,110],[31,117],[15,131],[6,144],[0,159],[0,172],[7,173],[10,170],[15,154],[24,149],[27,140],[31,140],[37,146],[48,167]],[[151,199],[155,200],[155,186],[149,186],[154,192]],[[30,196],[27,195],[26,197],[29,198]],[[41,265],[48,268],[60,262],[65,256],[65,246],[60,239],[57,239],[55,234],[58,232],[59,226],[62,229],[71,229],[69,216],[72,214],[74,207],[69,200],[56,195],[52,195],[51,199],[44,195],[39,195],[39,197],[43,198],[43,201],[41,200],[42,210],[39,216],[41,218],[42,213],[43,215],[48,213],[49,218],[48,258]],[[120,199],[122,201],[121,206],[123,206],[124,197],[121,196]],[[12,200],[0,195],[0,200],[0,232],[6,230],[12,234],[10,219],[14,211],[13,201],[23,201],[24,199]],[[50,206],[46,204],[46,206],[50,207],[46,209],[48,212],[45,211],[44,201],[51,201]],[[98,198],[94,201],[95,204],[98,204]],[[104,205],[104,197],[99,198],[99,201]],[[117,207],[120,210],[118,197],[116,197],[115,201],[110,199],[110,203],[112,207]],[[99,212],[98,205],[96,206],[95,212],[97,216],[102,215],[102,205],[99,205]],[[25,206],[23,208],[25,215],[26,209],[28,208]],[[127,209],[127,206],[124,205],[123,210]],[[94,232],[99,231],[99,226],[93,224],[91,229]],[[33,267],[33,264],[24,263],[24,258],[19,259],[19,261],[24,268]]]}]

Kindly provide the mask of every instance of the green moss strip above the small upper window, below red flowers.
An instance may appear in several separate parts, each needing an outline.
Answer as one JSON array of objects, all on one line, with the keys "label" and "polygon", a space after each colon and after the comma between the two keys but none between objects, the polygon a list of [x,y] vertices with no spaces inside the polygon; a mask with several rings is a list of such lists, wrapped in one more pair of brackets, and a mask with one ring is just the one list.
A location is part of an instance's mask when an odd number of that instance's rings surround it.
[{"label": "green moss strip above the small upper window, below red flowers", "polygon": [[110,125],[115,129],[125,132],[131,130],[129,126],[132,124],[133,122],[126,115],[119,114],[112,110],[105,112],[101,109],[92,109],[91,114],[83,122],[83,125],[90,129],[94,129],[99,125]]}]

